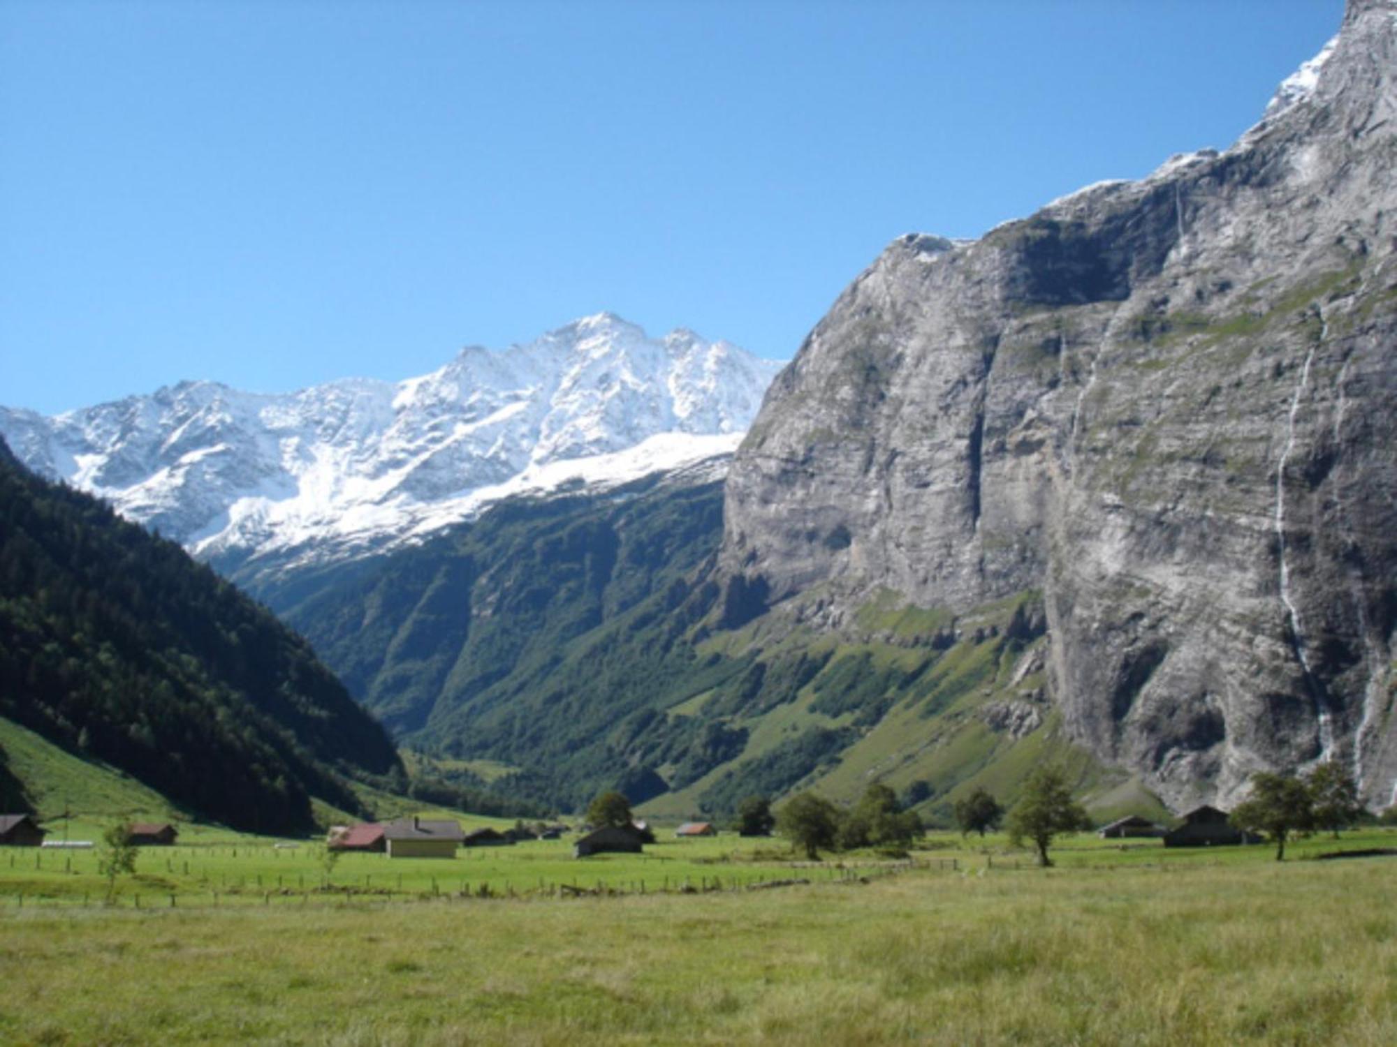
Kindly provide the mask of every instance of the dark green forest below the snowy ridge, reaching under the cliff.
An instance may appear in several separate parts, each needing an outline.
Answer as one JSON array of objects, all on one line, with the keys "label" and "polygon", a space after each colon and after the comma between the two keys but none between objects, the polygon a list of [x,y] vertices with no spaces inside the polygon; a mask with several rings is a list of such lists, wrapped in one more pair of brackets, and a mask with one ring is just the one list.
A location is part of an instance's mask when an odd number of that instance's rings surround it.
[{"label": "dark green forest below the snowy ridge, reaching under the cliff", "polygon": [[[502,503],[420,546],[298,572],[260,596],[405,744],[517,768],[492,789],[581,810],[606,789],[640,804],[722,768],[694,801],[724,817],[837,765],[895,701],[940,701],[944,688],[923,678],[939,646],[901,667],[707,645],[764,607],[740,578],[712,581],[721,539],[721,483],[651,477]],[[761,718],[807,687],[814,712],[840,723],[745,757]]]}]

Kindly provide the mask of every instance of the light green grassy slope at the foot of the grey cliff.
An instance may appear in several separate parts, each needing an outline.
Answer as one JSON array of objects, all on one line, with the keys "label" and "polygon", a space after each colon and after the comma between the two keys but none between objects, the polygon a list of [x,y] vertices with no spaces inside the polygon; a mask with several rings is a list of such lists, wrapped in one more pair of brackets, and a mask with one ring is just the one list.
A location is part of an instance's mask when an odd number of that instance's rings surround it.
[{"label": "light green grassy slope at the foot of the grey cliff", "polygon": [[[648,801],[645,812],[697,814],[711,789],[732,775],[740,780],[743,764],[773,752],[782,741],[812,727],[856,726],[856,740],[838,754],[838,761],[800,779],[792,790],[810,787],[835,801],[852,803],[873,782],[901,793],[922,779],[930,783],[933,796],[918,812],[946,825],[960,796],[985,787],[1007,805],[1017,799],[1034,766],[1056,761],[1067,768],[1088,810],[1102,822],[1123,814],[1166,819],[1168,811],[1157,797],[1065,738],[1051,706],[1032,697],[1045,685],[1044,674],[1018,670],[1042,652],[1045,641],[1016,635],[1013,623],[1034,599],[1034,593],[1024,593],[957,617],[939,609],[911,607],[891,593],[880,593],[856,616],[852,639],[812,641],[799,631],[773,635],[766,620],[735,634],[719,634],[707,649],[732,658],[754,649],[759,659],[771,660],[802,646],[828,652],[831,658],[793,702],[733,718],[749,730],[743,751],[693,785]],[[960,639],[950,646],[926,646],[928,638],[950,628],[958,631]],[[858,709],[830,716],[813,708],[826,681],[837,677],[841,659],[865,656],[861,677],[891,670],[921,673],[912,683],[886,691],[890,708],[872,723],[861,723]],[[856,678],[854,685],[858,683]],[[693,698],[669,709],[669,715],[701,716],[711,698],[712,694]],[[992,727],[986,708],[1006,701],[1035,702],[1041,726],[1020,737]]]}]

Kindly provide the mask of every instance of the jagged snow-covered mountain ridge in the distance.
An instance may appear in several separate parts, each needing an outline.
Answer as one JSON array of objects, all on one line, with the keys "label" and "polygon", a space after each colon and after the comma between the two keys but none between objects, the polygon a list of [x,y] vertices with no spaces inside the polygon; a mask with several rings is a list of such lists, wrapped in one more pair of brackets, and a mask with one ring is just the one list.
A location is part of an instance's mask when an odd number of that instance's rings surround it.
[{"label": "jagged snow-covered mountain ridge in the distance", "polygon": [[186,381],[52,417],[0,408],[0,434],[203,558],[281,570],[416,540],[510,494],[731,454],[778,369],[599,313],[400,383]]}]

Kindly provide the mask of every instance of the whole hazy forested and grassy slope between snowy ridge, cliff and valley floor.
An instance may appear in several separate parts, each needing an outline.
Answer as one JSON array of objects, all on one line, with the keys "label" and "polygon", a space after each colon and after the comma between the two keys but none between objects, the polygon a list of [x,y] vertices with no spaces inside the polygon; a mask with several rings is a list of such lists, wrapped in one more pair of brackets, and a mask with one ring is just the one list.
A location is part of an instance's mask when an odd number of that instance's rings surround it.
[{"label": "whole hazy forested and grassy slope between snowy ridge, cliff and valley floor", "polygon": [[775,637],[749,620],[759,593],[711,581],[721,519],[701,477],[511,501],[265,597],[408,744],[513,766],[495,786],[548,804],[615,786],[724,815],[876,779],[944,819],[977,786],[1011,796],[1048,754],[1102,810],[1150,803],[1111,796],[1125,776],[1060,736],[1032,596],[963,616],[880,599],[841,638]]}]

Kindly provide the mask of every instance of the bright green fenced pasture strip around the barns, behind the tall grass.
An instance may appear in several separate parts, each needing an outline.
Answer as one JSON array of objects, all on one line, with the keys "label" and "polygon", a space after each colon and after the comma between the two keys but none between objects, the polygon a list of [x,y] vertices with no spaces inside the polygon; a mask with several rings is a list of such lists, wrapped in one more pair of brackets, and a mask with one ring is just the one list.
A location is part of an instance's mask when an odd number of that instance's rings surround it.
[{"label": "bright green fenced pasture strip around the barns, behind the tall grass", "polygon": [[[423,817],[453,817],[427,811]],[[500,819],[465,817],[468,829]],[[74,821],[71,839],[101,840],[102,822]],[[50,839],[56,836],[50,835]],[[532,840],[502,847],[462,847],[454,859],[390,859],[387,854],[344,852],[327,867],[319,840],[281,840],[236,833],[218,826],[182,825],[172,847],[141,847],[136,875],[116,881],[115,902],[131,907],[229,905],[330,905],[423,898],[518,898],[557,893],[662,893],[745,888],[775,879],[834,882],[851,875],[882,875],[905,870],[905,861],[875,852],[830,853],[823,861],[798,860],[784,840],[740,838],[675,839],[657,829],[657,843],[643,854],[571,856],[576,836]],[[1345,832],[1343,840],[1315,835],[1287,847],[1294,860],[1336,849],[1397,847],[1397,832]],[[1099,840],[1092,833],[1062,838],[1053,847],[1060,868],[1182,868],[1199,864],[1264,863],[1268,846],[1165,849],[1158,840]],[[101,905],[108,884],[98,870],[101,847],[92,850],[0,849],[0,910],[25,905]],[[930,871],[990,872],[1028,870],[1032,857],[1014,850],[1002,835],[964,839],[929,833],[912,853],[914,866]],[[1397,872],[1397,868],[1394,868]]]}]

